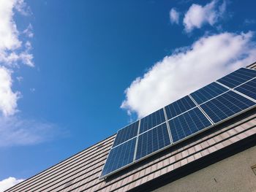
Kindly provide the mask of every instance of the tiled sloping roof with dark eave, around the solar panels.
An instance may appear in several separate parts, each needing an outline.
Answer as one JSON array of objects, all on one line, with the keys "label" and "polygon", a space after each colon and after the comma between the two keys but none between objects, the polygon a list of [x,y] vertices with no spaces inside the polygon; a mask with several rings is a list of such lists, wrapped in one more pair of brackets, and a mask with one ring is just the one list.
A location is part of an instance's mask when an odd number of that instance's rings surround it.
[{"label": "tiled sloping roof with dark eave, around the solar panels", "polygon": [[[256,63],[249,67],[256,69]],[[116,134],[7,191],[143,191],[157,188],[255,145],[256,109],[146,158],[107,180],[99,180],[115,137]],[[184,169],[189,171],[185,173]]]}]

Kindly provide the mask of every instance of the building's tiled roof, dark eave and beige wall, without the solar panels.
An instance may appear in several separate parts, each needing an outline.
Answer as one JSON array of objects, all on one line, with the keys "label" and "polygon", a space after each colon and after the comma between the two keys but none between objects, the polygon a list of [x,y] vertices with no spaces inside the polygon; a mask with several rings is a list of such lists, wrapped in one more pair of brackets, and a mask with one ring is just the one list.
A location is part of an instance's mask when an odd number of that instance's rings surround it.
[{"label": "building's tiled roof, dark eave and beige wall, without the solar panels", "polygon": [[256,191],[255,107],[99,179],[115,138],[7,191]]}]

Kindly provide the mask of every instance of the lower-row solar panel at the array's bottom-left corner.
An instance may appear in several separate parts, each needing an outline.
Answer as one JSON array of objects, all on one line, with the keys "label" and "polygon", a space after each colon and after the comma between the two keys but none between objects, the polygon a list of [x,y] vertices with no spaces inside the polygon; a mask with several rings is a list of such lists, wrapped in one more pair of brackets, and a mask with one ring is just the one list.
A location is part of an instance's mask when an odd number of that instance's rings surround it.
[{"label": "lower-row solar panel at the array's bottom-left corner", "polygon": [[137,137],[110,150],[101,177],[132,163],[135,154],[136,138]]}]

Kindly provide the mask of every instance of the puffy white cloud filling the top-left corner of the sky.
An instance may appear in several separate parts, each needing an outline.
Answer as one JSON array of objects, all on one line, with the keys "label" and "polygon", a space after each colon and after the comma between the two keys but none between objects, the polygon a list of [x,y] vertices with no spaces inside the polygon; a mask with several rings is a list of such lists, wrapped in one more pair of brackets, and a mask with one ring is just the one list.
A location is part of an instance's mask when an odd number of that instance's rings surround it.
[{"label": "puffy white cloud filling the top-left corner of the sky", "polygon": [[[14,15],[15,10],[26,15],[26,4],[23,0],[0,0],[0,64],[5,66],[17,66],[18,62],[28,66],[34,66],[29,50],[19,39],[20,32],[17,29]],[[31,24],[25,30],[28,37],[33,37]]]}]

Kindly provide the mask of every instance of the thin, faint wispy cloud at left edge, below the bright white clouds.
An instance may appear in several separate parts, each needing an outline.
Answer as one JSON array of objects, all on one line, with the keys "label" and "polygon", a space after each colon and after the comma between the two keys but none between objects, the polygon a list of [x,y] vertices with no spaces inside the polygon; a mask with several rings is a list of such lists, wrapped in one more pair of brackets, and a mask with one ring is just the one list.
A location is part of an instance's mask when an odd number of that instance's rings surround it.
[{"label": "thin, faint wispy cloud at left edge, below the bright white clouds", "polygon": [[53,123],[29,120],[17,116],[0,118],[0,147],[34,145],[46,142],[60,133]]}]

